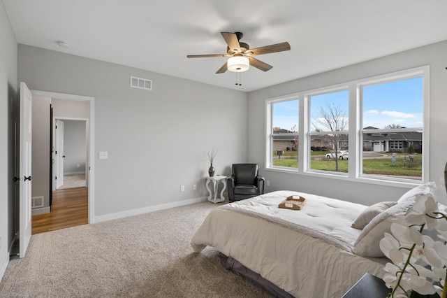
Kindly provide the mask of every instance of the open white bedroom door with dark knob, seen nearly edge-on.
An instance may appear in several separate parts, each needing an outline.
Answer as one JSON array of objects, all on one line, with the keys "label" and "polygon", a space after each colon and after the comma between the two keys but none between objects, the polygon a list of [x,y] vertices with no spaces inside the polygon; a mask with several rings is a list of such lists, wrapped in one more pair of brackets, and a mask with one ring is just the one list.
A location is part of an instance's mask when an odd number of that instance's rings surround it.
[{"label": "open white bedroom door with dark knob, seen nearly edge-on", "polygon": [[27,252],[31,239],[31,136],[32,95],[25,83],[20,83],[20,257]]}]

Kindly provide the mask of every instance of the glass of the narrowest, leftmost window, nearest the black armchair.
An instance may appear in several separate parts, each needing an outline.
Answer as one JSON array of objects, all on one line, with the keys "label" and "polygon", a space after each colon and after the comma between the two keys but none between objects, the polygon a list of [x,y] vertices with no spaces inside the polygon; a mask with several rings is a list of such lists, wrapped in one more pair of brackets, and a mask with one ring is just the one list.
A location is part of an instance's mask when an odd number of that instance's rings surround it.
[{"label": "glass of the narrowest, leftmost window, nearest the black armchair", "polygon": [[298,99],[272,104],[272,165],[298,169]]}]

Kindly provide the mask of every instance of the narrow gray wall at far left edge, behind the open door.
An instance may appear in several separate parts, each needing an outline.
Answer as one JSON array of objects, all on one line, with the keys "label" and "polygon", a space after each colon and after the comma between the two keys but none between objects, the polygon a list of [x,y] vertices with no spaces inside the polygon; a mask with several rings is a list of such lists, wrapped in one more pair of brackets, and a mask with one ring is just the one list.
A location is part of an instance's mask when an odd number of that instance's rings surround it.
[{"label": "narrow gray wall at far left edge, behind the open door", "polygon": [[17,42],[0,1],[0,278],[15,238],[15,134]]}]

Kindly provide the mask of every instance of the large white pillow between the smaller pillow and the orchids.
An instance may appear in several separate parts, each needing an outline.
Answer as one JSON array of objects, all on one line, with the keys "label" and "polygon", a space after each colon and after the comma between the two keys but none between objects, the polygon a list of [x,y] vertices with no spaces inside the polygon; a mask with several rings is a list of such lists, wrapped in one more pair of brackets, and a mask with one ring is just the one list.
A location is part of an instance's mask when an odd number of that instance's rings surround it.
[{"label": "large white pillow between the smaller pillow and the orchids", "polygon": [[362,257],[384,257],[382,251],[379,248],[379,241],[383,238],[385,232],[390,232],[391,216],[400,213],[406,213],[406,211],[413,206],[418,194],[433,194],[435,190],[433,182],[425,183],[418,187],[413,188],[406,192],[400,199],[397,200],[397,204],[382,211],[379,215],[376,215],[362,230],[352,252]]}]

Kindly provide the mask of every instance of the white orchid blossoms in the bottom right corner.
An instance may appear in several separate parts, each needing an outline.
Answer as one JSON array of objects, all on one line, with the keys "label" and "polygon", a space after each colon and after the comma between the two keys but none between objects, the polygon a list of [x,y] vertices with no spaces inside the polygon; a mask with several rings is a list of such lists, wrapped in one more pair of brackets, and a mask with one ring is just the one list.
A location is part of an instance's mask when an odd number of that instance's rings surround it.
[{"label": "white orchid blossoms in the bottom right corner", "polygon": [[[423,234],[425,229],[437,232],[439,240]],[[383,281],[393,289],[388,297],[446,298],[446,206],[440,207],[430,194],[420,194],[406,214],[395,215],[390,232],[380,241],[393,262],[384,268]]]}]

